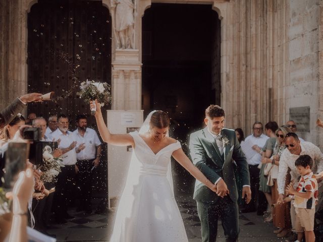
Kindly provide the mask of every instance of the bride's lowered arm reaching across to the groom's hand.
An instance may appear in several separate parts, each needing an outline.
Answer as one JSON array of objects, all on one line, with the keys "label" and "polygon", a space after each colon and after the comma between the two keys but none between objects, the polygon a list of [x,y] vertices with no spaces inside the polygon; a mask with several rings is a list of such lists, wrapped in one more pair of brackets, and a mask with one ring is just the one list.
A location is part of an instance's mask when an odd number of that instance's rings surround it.
[{"label": "bride's lowered arm reaching across to the groom's hand", "polygon": [[201,181],[206,187],[208,187],[213,192],[217,192],[217,186],[211,183],[205,175],[191,162],[191,160],[185,155],[182,149],[175,150],[173,152],[173,157],[180,163],[192,176]]}]

